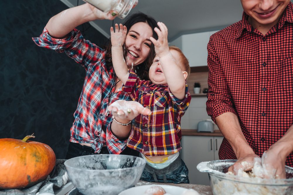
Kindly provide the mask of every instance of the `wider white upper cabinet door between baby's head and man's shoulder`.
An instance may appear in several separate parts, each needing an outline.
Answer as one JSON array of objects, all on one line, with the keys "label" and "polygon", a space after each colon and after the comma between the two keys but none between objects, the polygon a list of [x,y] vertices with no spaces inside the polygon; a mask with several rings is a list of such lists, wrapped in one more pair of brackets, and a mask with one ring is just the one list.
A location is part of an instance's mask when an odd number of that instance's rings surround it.
[{"label": "wider white upper cabinet door between baby's head and man's shoulder", "polygon": [[207,43],[209,32],[182,35],[182,51],[190,67],[207,65]]}]

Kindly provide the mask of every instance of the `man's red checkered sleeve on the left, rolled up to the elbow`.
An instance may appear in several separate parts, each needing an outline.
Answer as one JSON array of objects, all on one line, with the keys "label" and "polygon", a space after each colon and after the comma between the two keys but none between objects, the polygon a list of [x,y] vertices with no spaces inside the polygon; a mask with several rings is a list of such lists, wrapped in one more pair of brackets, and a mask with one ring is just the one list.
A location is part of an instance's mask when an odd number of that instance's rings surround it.
[{"label": "man's red checkered sleeve on the left, rolled up to the elbow", "polygon": [[234,103],[232,96],[224,78],[217,53],[213,45],[212,35],[207,45],[208,57],[207,65],[209,68],[208,86],[209,90],[207,93],[207,114],[211,116],[215,122],[215,118],[223,113],[232,112],[237,115],[234,109]]}]

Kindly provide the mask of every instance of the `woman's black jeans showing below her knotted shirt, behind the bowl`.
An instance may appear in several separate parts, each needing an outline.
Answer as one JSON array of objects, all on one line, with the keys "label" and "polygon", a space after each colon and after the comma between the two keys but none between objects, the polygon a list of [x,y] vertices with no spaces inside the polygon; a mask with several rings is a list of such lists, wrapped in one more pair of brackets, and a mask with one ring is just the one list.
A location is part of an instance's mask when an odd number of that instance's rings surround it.
[{"label": "woman's black jeans showing below her knotted shirt, behind the bowl", "polygon": [[[98,154],[95,153],[95,150],[90,146],[82,146],[78,143],[69,142],[68,151],[66,154],[65,159],[74,158],[77,156],[85,156],[85,155],[92,155]],[[99,154],[109,154],[107,147],[102,147]],[[126,147],[120,154],[130,155],[130,156],[139,156],[139,151],[135,151]]]}]

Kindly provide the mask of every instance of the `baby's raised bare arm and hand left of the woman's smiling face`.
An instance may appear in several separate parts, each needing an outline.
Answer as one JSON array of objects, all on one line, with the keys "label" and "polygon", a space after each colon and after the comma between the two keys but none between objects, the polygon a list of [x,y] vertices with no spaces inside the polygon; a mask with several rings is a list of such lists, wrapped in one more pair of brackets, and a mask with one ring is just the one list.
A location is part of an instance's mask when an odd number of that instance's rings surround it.
[{"label": "baby's raised bare arm and hand left of the woman's smiling face", "polygon": [[123,44],[125,42],[127,28],[120,24],[115,24],[115,32],[113,27],[110,28],[111,32],[111,43],[112,43],[112,63],[117,77],[126,83],[129,73],[127,64],[123,56]]}]

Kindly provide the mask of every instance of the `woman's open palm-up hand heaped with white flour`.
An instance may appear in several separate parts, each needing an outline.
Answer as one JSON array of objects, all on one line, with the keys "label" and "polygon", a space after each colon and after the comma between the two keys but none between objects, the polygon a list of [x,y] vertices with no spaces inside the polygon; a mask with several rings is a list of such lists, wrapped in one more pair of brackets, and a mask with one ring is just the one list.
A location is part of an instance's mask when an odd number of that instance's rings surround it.
[{"label": "woman's open palm-up hand heaped with white flour", "polygon": [[151,110],[136,101],[117,100],[109,106],[109,111],[120,122],[133,120],[139,114],[150,115]]}]

